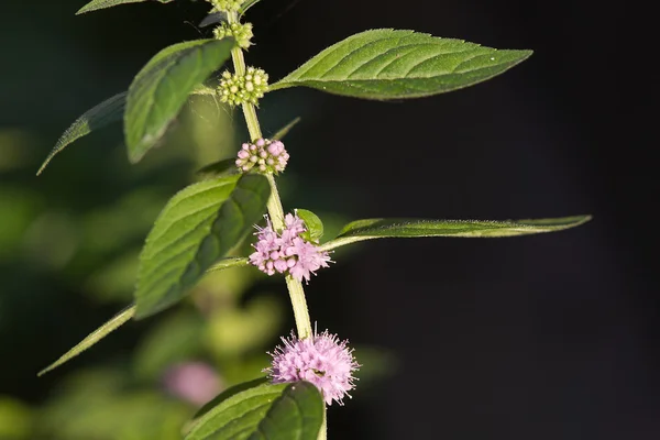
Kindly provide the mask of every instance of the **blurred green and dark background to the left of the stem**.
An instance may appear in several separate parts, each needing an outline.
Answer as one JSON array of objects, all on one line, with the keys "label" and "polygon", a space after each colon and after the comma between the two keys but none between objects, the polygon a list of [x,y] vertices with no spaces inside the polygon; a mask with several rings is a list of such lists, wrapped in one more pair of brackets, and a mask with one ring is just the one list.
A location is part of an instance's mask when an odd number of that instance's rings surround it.
[{"label": "blurred green and dark background to the left of the stem", "polygon": [[[4,57],[20,65],[3,64],[0,84],[0,439],[178,439],[196,408],[263,375],[266,351],[292,328],[286,289],[250,268],[209,275],[180,307],[130,322],[36,378],[130,304],[139,252],[166,200],[245,139],[240,112],[193,98],[143,163],[128,164],[116,124],[75,143],[35,177],[78,114],[124,90],[160,48],[211,31],[194,24],[207,3],[125,6],[76,18],[80,6],[2,6]],[[273,134],[305,106],[277,103],[264,132]],[[294,180],[283,179],[285,198]],[[324,217],[332,233],[340,218]]]}]

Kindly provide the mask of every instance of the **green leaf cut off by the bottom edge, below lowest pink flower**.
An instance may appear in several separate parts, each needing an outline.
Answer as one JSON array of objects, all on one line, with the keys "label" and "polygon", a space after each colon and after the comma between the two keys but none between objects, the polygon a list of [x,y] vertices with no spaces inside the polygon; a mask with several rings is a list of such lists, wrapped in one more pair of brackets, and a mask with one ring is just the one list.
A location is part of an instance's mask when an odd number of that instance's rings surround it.
[{"label": "green leaf cut off by the bottom edge, below lowest pink flower", "polygon": [[317,440],[323,421],[323,399],[308,382],[263,384],[263,380],[230,388],[204,408],[185,440]]}]

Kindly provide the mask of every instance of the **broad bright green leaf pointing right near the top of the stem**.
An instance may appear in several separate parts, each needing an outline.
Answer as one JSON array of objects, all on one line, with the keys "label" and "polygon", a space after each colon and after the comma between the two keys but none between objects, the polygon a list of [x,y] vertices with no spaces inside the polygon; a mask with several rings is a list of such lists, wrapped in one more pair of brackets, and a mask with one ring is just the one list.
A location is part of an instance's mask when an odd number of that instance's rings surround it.
[{"label": "broad bright green leaf pointing right near the top of the stem", "polygon": [[378,29],[339,42],[271,86],[306,86],[364,99],[419,98],[472,86],[531,51],[498,51],[462,40]]}]

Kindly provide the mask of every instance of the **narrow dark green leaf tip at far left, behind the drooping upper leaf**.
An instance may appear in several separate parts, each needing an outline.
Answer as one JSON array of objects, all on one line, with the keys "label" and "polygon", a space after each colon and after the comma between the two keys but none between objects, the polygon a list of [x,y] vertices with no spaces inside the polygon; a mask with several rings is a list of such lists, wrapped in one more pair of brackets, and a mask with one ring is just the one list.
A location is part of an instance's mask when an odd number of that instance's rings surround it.
[{"label": "narrow dark green leaf tip at far left, behind the drooping upper leaf", "polygon": [[112,122],[121,121],[124,106],[127,102],[127,92],[114,95],[112,98],[106,99],[98,106],[87,110],[78,118],[72,127],[66,129],[64,134],[57,140],[55,147],[48,154],[42,166],[36,172],[38,176],[42,174],[46,165],[55,157],[57,153],[63,151],[72,142],[91,133],[94,130],[103,128]]}]

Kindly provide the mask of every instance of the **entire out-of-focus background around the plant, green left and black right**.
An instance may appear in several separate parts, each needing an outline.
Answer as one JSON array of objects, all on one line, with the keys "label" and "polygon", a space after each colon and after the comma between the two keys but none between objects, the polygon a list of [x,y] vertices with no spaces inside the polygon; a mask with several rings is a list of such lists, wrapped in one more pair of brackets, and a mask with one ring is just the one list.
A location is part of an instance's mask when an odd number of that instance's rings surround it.
[{"label": "entire out-of-focus background around the plant, green left and black right", "polygon": [[[160,209],[245,139],[240,114],[195,99],[139,165],[129,165],[118,124],[35,177],[64,129],[124,90],[158,50],[210,34],[198,26],[208,9],[199,1],[75,16],[84,3],[0,7],[0,439],[177,439],[209,395],[260,374],[293,319],[283,283],[228,271],[36,378],[130,302]],[[646,156],[650,94],[632,91],[644,75],[624,55],[638,44],[626,36],[636,35],[629,8],[263,0],[251,10],[249,62],[273,80],[374,28],[536,51],[491,81],[424,100],[268,95],[266,134],[302,118],[286,139],[285,205],[320,215],[329,234],[367,217],[595,216],[556,234],[338,252],[308,287],[311,312],[351,340],[364,367],[354,398],[330,409],[331,438],[660,436],[647,208],[657,172]]]}]

